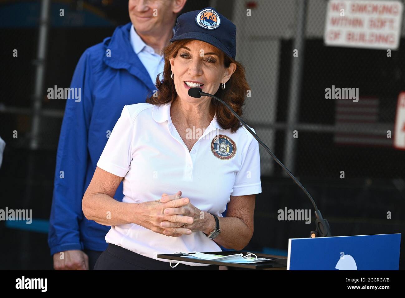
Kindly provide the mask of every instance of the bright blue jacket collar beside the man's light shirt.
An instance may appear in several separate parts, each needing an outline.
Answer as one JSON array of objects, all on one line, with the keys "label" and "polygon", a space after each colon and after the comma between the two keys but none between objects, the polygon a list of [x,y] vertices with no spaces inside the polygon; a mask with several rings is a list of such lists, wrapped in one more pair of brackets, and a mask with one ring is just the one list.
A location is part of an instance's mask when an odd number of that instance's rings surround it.
[{"label": "bright blue jacket collar beside the man's light shirt", "polygon": [[[145,66],[143,66],[138,55],[134,53],[130,43],[130,28],[132,23],[118,26],[113,36],[104,39],[103,61],[113,69],[126,69],[129,73],[139,78],[149,90],[156,89]],[[107,49],[111,50],[111,57],[105,53]]]}]

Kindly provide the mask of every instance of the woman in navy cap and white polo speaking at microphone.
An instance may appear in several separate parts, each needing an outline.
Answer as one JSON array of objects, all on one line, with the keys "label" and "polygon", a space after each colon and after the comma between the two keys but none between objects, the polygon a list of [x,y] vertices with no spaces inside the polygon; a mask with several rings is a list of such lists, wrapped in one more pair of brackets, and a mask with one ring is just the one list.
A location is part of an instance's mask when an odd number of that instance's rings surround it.
[{"label": "woman in navy cap and white polo speaking at microphone", "polygon": [[[170,261],[156,255],[249,243],[262,191],[258,141],[220,102],[188,95],[199,87],[242,116],[249,86],[234,60],[235,37],[235,25],[212,7],[182,14],[164,49],[157,92],[124,106],[82,202],[87,219],[111,225],[95,270],[167,270]],[[218,266],[181,262],[174,269]]]}]

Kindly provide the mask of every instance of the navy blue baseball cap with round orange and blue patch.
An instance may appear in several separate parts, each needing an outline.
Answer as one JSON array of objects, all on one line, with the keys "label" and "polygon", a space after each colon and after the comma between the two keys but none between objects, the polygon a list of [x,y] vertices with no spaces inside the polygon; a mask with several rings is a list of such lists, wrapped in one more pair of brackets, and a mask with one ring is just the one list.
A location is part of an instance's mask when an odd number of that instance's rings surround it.
[{"label": "navy blue baseball cap with round orange and blue patch", "polygon": [[236,26],[213,7],[181,14],[177,18],[175,34],[170,41],[181,39],[204,41],[235,59]]}]

